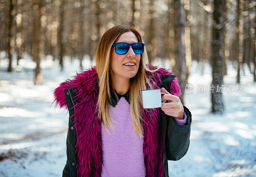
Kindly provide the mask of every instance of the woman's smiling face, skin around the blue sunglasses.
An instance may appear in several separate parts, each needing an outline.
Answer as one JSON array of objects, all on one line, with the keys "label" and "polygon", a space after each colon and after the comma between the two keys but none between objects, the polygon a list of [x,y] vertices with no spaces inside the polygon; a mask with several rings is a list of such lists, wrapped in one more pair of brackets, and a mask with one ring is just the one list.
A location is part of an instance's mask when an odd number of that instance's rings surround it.
[{"label": "woman's smiling face, skin around the blue sunglasses", "polygon": [[[116,43],[118,42],[126,42],[126,43],[135,43],[138,42],[136,35],[132,32],[125,32],[123,33]],[[135,61],[135,67],[127,67],[124,64],[129,61]],[[113,78],[125,78],[129,79],[134,77],[139,69],[140,64],[140,54],[134,53],[132,50],[132,46],[130,46],[128,52],[124,55],[119,55],[115,52],[115,47],[111,49],[110,55],[110,73],[111,77]]]}]

